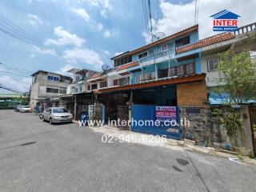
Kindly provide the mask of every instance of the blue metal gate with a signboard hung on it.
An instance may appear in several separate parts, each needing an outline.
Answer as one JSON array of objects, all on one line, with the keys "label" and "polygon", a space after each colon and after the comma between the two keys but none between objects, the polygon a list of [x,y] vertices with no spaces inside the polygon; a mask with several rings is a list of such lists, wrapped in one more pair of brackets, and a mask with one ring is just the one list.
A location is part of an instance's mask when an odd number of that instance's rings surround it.
[{"label": "blue metal gate with a signboard hung on it", "polygon": [[[160,117],[159,114],[160,115],[162,114],[162,112],[159,113],[159,111],[157,111],[159,107],[161,109],[162,108],[175,109],[175,111],[174,110],[166,111],[166,112],[163,111],[163,114],[167,114],[167,116],[169,114],[173,115],[173,118],[176,119],[176,122],[178,124],[175,126],[171,126],[171,125],[166,126],[164,124],[164,121],[168,119],[159,120],[159,117]],[[143,132],[147,134],[166,135],[167,138],[174,138],[179,140],[181,139],[181,129],[179,126],[178,112],[179,112],[178,106],[132,105],[131,106],[131,130]],[[156,122],[156,120],[160,121],[159,125],[156,125],[155,123],[152,124],[152,121]]]}]

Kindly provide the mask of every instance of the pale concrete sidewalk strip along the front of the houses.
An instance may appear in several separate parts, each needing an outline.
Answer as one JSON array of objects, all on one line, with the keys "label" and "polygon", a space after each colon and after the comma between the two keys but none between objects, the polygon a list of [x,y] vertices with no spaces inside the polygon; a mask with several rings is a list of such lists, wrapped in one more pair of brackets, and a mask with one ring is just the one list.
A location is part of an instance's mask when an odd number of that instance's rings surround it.
[{"label": "pale concrete sidewalk strip along the front of the houses", "polygon": [[[204,154],[216,155],[223,158],[238,158],[238,156],[235,154],[219,152],[214,147],[194,146],[184,141],[179,141],[171,138],[166,138],[166,142],[155,141],[154,139],[152,139],[153,136],[151,134],[143,134],[130,130],[120,130],[117,127],[113,126],[86,126],[86,128],[90,128],[94,132],[113,137],[115,138],[114,141],[117,141],[119,138],[122,138],[122,140],[124,140],[125,142],[133,142],[146,146],[161,146],[170,148],[172,150],[192,150]],[[130,138],[136,139],[134,139],[134,141],[131,141]],[[256,159],[249,158],[246,156],[244,156],[243,159],[240,160],[240,162],[246,162],[254,164],[256,166]]]}]

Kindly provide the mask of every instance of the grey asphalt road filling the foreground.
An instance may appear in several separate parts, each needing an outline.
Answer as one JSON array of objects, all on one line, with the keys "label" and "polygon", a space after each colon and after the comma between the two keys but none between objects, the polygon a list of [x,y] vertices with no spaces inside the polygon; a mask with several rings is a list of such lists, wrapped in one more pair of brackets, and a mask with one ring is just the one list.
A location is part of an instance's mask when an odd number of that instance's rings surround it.
[{"label": "grey asphalt road filling the foreground", "polygon": [[0,191],[256,191],[256,167],[0,110]]}]

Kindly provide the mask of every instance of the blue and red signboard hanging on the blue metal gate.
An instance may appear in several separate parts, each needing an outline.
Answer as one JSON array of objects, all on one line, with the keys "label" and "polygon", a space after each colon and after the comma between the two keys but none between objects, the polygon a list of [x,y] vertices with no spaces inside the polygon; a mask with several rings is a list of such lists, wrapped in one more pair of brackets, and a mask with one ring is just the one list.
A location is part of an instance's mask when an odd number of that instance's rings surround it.
[{"label": "blue and red signboard hanging on the blue metal gate", "polygon": [[177,106],[155,106],[155,118],[161,122],[177,121]]}]

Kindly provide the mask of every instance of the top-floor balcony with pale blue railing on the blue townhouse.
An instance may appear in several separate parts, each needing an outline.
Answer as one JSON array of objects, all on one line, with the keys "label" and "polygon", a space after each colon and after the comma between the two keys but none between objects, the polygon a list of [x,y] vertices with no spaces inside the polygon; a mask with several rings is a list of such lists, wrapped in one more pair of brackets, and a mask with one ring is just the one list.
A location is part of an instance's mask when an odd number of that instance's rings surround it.
[{"label": "top-floor balcony with pale blue railing on the blue townhouse", "polygon": [[139,62],[142,63],[143,66],[151,65],[156,62],[163,62],[168,60],[168,58],[174,58],[175,49],[172,48],[170,50],[162,51],[158,54],[150,55],[146,58],[139,59]]}]

